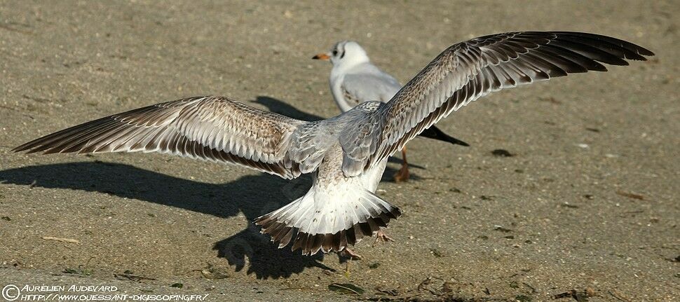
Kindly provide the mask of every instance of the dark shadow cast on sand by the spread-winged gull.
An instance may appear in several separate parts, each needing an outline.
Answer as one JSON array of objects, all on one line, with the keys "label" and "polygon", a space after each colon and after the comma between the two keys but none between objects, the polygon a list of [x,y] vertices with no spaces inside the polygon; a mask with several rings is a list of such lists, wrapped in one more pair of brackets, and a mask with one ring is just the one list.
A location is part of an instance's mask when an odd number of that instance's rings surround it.
[{"label": "dark shadow cast on sand by the spread-winged gull", "polygon": [[[234,217],[243,213],[248,221],[253,221],[303,195],[311,185],[311,179],[301,177],[285,181],[259,174],[240,177],[226,184],[208,184],[97,160],[2,170],[0,183],[107,193],[216,217]],[[277,245],[269,242],[268,236],[259,233],[259,227],[252,222],[248,225],[243,231],[219,240],[213,246],[217,255],[226,258],[236,271],[243,270],[248,263],[248,274],[254,273],[258,278],[266,279],[290,277],[311,267],[332,270],[320,263],[322,254],[303,256],[299,251],[291,252],[290,247],[278,249]]]}]

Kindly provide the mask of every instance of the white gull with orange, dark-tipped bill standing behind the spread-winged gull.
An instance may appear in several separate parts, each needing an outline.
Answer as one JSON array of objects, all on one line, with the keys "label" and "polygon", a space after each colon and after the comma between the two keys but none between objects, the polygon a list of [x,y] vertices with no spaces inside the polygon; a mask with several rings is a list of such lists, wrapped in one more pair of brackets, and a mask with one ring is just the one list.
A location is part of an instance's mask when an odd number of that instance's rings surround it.
[{"label": "white gull with orange, dark-tipped bill standing behind the spread-winged gull", "polygon": [[[389,102],[402,88],[396,78],[372,64],[366,50],[355,41],[335,43],[328,53],[320,53],[312,59],[329,60],[333,64],[329,84],[333,99],[342,112],[349,111],[363,102]],[[447,135],[435,126],[423,130],[420,136],[469,146],[468,143]],[[402,149],[402,160],[401,169],[394,175],[395,181],[409,179],[406,146]]]}]

